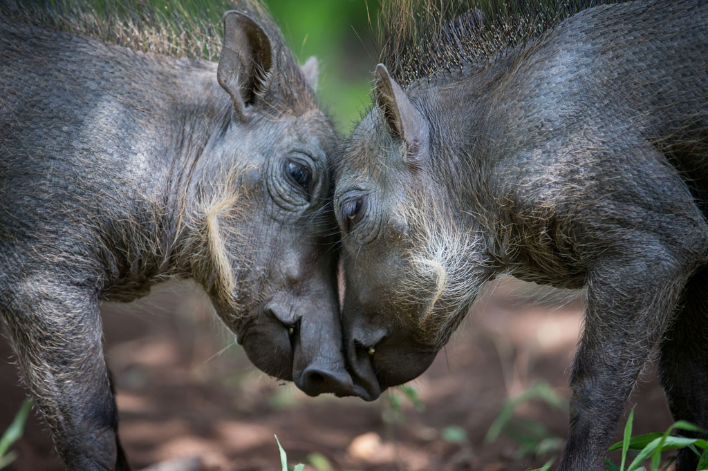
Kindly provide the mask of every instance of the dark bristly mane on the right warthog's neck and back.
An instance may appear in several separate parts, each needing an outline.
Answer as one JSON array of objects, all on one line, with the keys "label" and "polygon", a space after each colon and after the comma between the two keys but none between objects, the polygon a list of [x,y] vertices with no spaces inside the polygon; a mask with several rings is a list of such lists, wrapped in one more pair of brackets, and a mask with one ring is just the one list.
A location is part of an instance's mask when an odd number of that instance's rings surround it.
[{"label": "dark bristly mane on the right warthog's neck and back", "polygon": [[617,0],[382,0],[380,60],[407,86],[486,61],[578,11]]}]

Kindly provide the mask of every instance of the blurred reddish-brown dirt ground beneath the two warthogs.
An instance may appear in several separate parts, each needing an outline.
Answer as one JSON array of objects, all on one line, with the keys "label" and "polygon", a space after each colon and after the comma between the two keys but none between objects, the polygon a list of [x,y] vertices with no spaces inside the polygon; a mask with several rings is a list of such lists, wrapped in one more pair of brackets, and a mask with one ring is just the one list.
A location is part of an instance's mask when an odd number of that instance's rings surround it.
[{"label": "blurred reddish-brown dirt ground beneath the two warthogs", "polygon": [[[212,318],[190,285],[159,289],[144,300],[102,308],[105,351],[118,388],[120,436],[135,469],[197,455],[205,471],[280,470],[274,435],[290,465],[310,453],[333,470],[526,470],[550,455],[515,458],[516,442],[484,436],[510,395],[546,381],[567,397],[566,370],[581,324],[580,302],[562,308],[518,301],[518,283],[501,284],[426,373],[411,385],[417,410],[401,392],[375,402],[307,397],[292,383],[256,370]],[[516,290],[516,291],[515,291]],[[6,339],[0,339],[0,431],[25,395]],[[394,399],[401,402],[394,407]],[[634,393],[635,431],[663,431],[671,423],[655,375]],[[542,402],[518,414],[564,436],[567,417]],[[459,443],[443,438],[461,427]],[[619,435],[617,435],[619,436]],[[62,470],[46,426],[31,417],[12,471]],[[557,453],[556,453],[557,455]],[[307,465],[306,470],[323,470]]]}]

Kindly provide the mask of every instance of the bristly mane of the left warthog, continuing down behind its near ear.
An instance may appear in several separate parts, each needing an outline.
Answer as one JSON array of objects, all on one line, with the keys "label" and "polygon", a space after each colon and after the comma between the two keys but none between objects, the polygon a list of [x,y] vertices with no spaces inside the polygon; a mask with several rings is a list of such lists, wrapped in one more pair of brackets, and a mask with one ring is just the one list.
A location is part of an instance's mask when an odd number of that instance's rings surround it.
[{"label": "bristly mane of the left warthog, continuing down behind its near ear", "polygon": [[302,115],[317,106],[307,81],[263,0],[0,0],[0,16],[171,57],[216,61],[222,17],[251,16],[273,47],[273,80],[263,98],[275,115]]}]

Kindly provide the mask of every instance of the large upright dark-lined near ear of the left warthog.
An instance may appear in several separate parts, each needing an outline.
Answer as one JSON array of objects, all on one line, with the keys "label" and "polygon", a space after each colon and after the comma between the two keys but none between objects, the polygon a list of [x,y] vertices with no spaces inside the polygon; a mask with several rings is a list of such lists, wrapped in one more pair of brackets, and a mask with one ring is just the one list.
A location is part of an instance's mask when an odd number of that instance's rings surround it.
[{"label": "large upright dark-lined near ear of the left warthog", "polygon": [[248,108],[270,87],[272,65],[270,38],[261,25],[239,11],[224,13],[217,80],[231,96],[241,120],[247,119]]}]

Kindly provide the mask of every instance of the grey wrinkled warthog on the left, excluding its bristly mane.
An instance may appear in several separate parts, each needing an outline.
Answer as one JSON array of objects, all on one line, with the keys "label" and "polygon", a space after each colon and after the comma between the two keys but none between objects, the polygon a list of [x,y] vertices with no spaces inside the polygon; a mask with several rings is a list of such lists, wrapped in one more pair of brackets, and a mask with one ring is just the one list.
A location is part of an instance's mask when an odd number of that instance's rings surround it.
[{"label": "grey wrinkled warthog on the left, excluding its bristly mane", "polygon": [[266,373],[350,388],[313,64],[224,28],[217,71],[0,17],[0,315],[70,470],[129,469],[98,302],[163,279],[203,286]]}]

